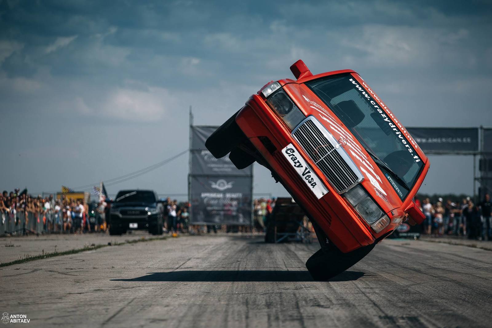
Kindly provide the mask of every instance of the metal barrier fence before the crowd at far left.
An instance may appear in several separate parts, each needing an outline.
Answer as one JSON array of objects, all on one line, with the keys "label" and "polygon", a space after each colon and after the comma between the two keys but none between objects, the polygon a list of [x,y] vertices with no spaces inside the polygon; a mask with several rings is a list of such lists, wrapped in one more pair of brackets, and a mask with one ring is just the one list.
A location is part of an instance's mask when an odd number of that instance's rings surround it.
[{"label": "metal barrier fence before the crowd at far left", "polygon": [[61,213],[0,212],[0,236],[60,232]]}]

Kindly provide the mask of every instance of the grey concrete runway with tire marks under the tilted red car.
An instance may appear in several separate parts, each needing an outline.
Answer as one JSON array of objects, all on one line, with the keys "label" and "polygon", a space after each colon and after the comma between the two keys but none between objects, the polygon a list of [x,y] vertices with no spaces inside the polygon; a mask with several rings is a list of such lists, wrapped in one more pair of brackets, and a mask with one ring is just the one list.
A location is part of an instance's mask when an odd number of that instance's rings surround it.
[{"label": "grey concrete runway with tire marks under the tilted red car", "polygon": [[492,252],[384,240],[330,282],[316,244],[184,236],[0,268],[6,327],[491,327]]}]

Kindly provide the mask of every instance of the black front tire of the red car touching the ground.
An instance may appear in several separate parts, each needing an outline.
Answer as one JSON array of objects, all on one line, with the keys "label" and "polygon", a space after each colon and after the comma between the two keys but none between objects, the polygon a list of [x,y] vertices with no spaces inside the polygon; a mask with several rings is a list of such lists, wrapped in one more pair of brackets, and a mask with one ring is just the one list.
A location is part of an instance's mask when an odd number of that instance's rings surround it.
[{"label": "black front tire of the red car touching the ground", "polygon": [[348,253],[342,253],[334,245],[328,250],[320,249],[307,260],[307,270],[314,280],[329,280],[361,261],[375,245],[373,243]]}]

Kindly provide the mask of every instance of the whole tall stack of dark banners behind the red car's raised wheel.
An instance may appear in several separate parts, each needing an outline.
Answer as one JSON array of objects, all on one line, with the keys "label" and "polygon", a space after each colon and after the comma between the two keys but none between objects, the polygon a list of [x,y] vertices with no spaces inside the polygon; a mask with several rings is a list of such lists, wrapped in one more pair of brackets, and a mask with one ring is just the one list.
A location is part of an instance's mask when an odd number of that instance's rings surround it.
[{"label": "whole tall stack of dark banners behind the red car's raised wheel", "polygon": [[250,225],[253,166],[239,170],[229,156],[208,151],[205,141],[217,128],[190,127],[190,224]]}]

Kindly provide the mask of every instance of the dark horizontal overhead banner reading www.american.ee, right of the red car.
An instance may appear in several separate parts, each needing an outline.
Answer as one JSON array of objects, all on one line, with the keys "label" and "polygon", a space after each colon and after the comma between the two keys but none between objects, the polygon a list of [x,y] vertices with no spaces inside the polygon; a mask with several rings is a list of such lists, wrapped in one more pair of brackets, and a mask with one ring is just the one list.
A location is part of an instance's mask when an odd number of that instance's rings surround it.
[{"label": "dark horizontal overhead banner reading www.american.ee, right of the red car", "polygon": [[407,131],[424,152],[478,151],[478,128],[407,128]]}]

